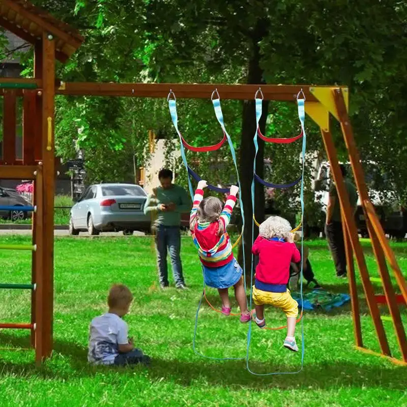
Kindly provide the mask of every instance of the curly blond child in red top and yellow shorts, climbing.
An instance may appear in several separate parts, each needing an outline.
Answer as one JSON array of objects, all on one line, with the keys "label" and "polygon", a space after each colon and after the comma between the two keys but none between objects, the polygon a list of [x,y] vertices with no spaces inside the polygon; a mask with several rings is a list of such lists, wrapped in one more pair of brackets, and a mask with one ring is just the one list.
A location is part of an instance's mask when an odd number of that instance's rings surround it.
[{"label": "curly blond child in red top and yellow shorts, climbing", "polygon": [[290,295],[287,283],[290,263],[298,263],[301,256],[294,243],[289,222],[279,216],[271,216],[261,223],[252,253],[259,256],[253,286],[253,302],[256,306],[254,321],[259,328],[265,328],[265,304],[281,308],[287,316],[284,346],[298,352],[294,337],[298,303]]}]

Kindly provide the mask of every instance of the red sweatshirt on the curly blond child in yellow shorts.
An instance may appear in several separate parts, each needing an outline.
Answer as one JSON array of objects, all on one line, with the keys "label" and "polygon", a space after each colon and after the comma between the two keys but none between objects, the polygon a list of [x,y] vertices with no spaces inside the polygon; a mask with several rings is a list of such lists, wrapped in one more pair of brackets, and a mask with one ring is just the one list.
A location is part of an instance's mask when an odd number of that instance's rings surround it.
[{"label": "red sweatshirt on the curly blond child in yellow shorts", "polygon": [[301,260],[295,243],[278,242],[261,236],[256,239],[251,251],[259,256],[256,279],[268,284],[287,284],[289,264]]}]

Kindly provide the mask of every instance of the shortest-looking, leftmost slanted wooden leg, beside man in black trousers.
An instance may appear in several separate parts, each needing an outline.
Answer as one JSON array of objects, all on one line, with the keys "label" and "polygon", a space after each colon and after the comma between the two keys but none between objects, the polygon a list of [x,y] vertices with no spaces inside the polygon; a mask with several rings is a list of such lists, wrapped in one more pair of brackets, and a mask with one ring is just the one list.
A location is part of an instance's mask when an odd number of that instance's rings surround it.
[{"label": "shortest-looking, leftmost slanted wooden leg, beside man in black trousers", "polygon": [[358,299],[358,288],[356,285],[355,277],[355,266],[353,262],[353,250],[352,244],[349,237],[349,232],[346,227],[346,222],[342,212],[342,229],[343,229],[343,241],[345,244],[346,253],[346,265],[347,265],[347,277],[349,281],[349,293],[351,295],[351,306],[352,306],[352,318],[353,327],[355,334],[356,346],[363,347],[362,341],[362,329],[360,325],[360,312],[359,312],[359,299]]}]

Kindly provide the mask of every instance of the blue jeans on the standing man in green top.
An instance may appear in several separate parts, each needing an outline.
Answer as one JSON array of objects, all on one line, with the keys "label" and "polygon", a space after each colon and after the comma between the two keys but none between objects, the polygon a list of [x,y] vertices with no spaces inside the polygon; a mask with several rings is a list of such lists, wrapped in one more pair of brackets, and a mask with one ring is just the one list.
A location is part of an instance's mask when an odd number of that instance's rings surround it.
[{"label": "blue jeans on the standing man in green top", "polygon": [[184,284],[180,257],[181,232],[179,226],[158,225],[156,228],[158,278],[160,284],[168,285],[167,248],[176,286]]}]

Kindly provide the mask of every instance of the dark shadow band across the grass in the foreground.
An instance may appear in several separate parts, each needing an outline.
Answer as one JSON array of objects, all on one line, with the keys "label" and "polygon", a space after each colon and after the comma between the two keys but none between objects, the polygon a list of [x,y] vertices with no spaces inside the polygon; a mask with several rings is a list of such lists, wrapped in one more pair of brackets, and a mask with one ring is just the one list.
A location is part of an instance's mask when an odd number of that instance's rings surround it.
[{"label": "dark shadow band across the grass in the foreground", "polygon": [[[0,334],[0,343],[9,344],[15,347],[27,347],[30,344],[29,337],[13,337],[7,334]],[[117,368],[89,366],[86,362],[87,349],[77,343],[66,341],[55,341],[54,358],[57,359],[60,354],[68,360],[71,369],[59,368],[55,363],[58,361],[50,360],[39,369],[36,369],[33,363],[12,363],[0,360],[0,377],[5,374],[13,374],[20,377],[30,377],[36,375],[47,380],[72,380],[73,377],[93,377],[98,372],[114,372],[111,377],[111,383],[118,380],[118,386],[123,386],[123,381],[118,378],[128,375],[129,372],[141,372],[146,368],[141,366]],[[192,350],[191,350],[192,353]],[[292,355],[288,354],[287,355]],[[294,355],[292,355],[294,356]],[[290,359],[291,361],[293,359]],[[300,361],[298,354],[297,361]],[[54,363],[55,362],[55,363]],[[407,369],[398,366],[370,365],[368,357],[366,364],[360,360],[341,361],[336,360],[334,363],[314,363],[306,365],[303,372],[299,374],[283,374],[273,376],[255,376],[249,374],[246,370],[245,361],[208,361],[206,359],[198,360],[173,360],[153,358],[152,366],[148,369],[148,376],[152,380],[162,380],[164,377],[173,380],[181,386],[194,386],[196,381],[201,379],[206,383],[214,386],[227,386],[228,388],[248,387],[253,390],[262,390],[270,388],[271,381],[275,388],[281,390],[312,388],[312,389],[329,389],[332,387],[382,387],[393,390],[405,391],[407,383]],[[297,366],[273,364],[273,362],[250,362],[250,369],[256,373],[268,372],[290,372],[296,371]],[[129,378],[134,376],[129,376]]]}]

